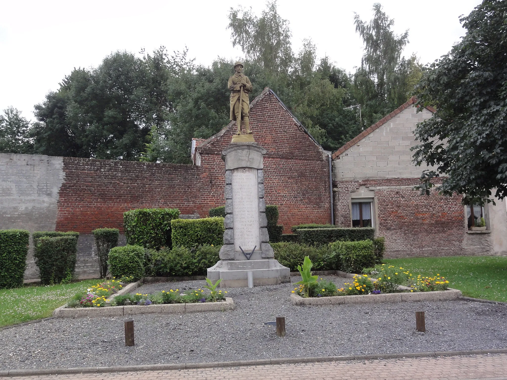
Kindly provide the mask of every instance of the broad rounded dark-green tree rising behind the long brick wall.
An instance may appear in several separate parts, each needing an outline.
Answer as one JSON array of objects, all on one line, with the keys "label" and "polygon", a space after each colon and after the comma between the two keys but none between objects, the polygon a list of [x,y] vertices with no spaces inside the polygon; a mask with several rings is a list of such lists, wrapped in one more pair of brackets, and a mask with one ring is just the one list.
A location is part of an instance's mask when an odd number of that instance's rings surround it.
[{"label": "broad rounded dark-green tree rising behind the long brick wall", "polygon": [[163,125],[165,50],[136,57],[116,52],[92,70],[75,69],[35,106],[35,151],[53,156],[136,160],[152,125]]}]

